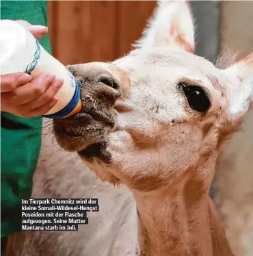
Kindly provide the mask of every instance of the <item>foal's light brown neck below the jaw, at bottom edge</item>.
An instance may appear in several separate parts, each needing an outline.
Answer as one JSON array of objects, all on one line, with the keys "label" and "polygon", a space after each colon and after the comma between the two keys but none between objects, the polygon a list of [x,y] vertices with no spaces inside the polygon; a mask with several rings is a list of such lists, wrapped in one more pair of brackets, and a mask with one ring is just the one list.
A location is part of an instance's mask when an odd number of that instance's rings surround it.
[{"label": "foal's light brown neck below the jaw, at bottom edge", "polygon": [[140,256],[232,255],[209,187],[198,177],[177,188],[134,194]]}]

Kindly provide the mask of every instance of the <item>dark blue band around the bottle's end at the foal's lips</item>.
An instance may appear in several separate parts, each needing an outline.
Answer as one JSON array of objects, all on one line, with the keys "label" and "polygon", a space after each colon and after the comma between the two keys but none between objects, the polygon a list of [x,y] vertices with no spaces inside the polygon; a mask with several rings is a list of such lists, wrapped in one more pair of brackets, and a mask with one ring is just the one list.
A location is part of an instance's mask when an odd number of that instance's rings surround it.
[{"label": "dark blue band around the bottle's end at the foal's lips", "polygon": [[75,107],[77,107],[77,103],[79,102],[80,99],[80,89],[79,89],[79,85],[77,83],[77,79],[75,79],[75,93],[74,96],[72,97],[71,101],[68,103],[68,105],[66,105],[66,107],[64,107],[62,110],[60,110],[59,112],[55,113],[55,114],[51,114],[51,115],[44,115],[43,117],[46,118],[53,118],[53,119],[58,119],[58,118],[62,118],[64,116],[67,116],[68,114],[70,114]]}]

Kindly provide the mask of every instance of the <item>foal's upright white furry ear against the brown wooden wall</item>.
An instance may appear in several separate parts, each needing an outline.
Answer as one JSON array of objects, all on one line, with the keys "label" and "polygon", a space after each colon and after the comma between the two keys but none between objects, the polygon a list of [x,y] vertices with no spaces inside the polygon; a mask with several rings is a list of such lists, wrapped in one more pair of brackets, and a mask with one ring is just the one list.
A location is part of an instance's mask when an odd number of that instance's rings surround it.
[{"label": "foal's upright white furry ear against the brown wooden wall", "polygon": [[194,52],[194,22],[185,0],[160,0],[136,48],[177,46]]}]

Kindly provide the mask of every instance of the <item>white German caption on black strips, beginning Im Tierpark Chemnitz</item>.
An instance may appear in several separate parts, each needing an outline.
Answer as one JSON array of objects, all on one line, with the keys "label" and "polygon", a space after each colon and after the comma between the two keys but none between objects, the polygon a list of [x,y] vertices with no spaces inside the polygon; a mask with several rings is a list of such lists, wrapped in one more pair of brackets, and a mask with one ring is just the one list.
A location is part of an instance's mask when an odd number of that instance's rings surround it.
[{"label": "white German caption on black strips, beginning Im Tierpark Chemnitz", "polygon": [[98,199],[22,199],[22,230],[77,231],[98,212]]}]

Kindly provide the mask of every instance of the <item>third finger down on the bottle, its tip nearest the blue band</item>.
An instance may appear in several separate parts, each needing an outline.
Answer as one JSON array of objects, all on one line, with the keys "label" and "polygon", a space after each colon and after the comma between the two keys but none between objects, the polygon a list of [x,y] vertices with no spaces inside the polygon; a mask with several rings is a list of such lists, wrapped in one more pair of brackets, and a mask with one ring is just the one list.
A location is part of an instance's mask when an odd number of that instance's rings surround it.
[{"label": "third finger down on the bottle, its tip nearest the blue band", "polygon": [[55,97],[55,94],[57,94],[59,89],[62,87],[62,84],[62,79],[55,79],[55,81],[53,81],[53,84],[49,86],[49,88],[44,92],[44,94],[42,94],[34,101],[31,101],[26,104],[27,108],[29,108],[30,110],[34,110],[37,107],[41,107],[42,105],[50,103]]}]

